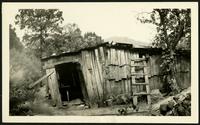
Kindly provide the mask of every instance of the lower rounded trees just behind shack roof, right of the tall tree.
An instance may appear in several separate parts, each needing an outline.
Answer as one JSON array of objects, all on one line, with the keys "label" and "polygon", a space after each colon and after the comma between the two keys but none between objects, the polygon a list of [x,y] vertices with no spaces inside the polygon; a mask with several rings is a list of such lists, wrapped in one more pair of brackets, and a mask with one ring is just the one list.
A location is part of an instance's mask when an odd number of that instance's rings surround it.
[{"label": "lower rounded trees just behind shack roof, right of the tall tree", "polygon": [[78,51],[82,48],[96,46],[103,42],[100,36],[88,32],[82,36],[81,30],[77,24],[68,24],[62,27],[62,32],[52,34],[48,39],[49,49],[47,55],[52,53],[62,53],[67,51]]}]

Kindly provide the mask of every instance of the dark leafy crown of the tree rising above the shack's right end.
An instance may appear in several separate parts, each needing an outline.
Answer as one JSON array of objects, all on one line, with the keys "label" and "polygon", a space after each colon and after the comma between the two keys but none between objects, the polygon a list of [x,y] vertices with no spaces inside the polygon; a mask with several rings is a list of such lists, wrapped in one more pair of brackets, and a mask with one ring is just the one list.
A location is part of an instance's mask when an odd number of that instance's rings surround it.
[{"label": "dark leafy crown of the tree rising above the shack's right end", "polygon": [[154,47],[177,49],[177,45],[181,42],[187,42],[188,45],[185,45],[183,49],[190,47],[190,9],[154,9],[149,18],[138,17],[138,19],[142,23],[156,25],[157,34],[153,42]]}]

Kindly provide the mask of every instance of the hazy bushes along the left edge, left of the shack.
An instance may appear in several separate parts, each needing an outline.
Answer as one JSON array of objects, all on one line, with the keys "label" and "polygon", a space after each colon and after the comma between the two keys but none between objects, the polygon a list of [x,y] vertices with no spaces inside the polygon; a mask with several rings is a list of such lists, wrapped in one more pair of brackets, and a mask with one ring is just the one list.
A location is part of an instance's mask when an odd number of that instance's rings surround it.
[{"label": "hazy bushes along the left edge, left of the shack", "polygon": [[23,104],[32,101],[35,92],[27,87],[40,77],[41,63],[31,51],[23,47],[11,26],[10,36],[10,114],[26,115],[29,109],[23,107]]}]

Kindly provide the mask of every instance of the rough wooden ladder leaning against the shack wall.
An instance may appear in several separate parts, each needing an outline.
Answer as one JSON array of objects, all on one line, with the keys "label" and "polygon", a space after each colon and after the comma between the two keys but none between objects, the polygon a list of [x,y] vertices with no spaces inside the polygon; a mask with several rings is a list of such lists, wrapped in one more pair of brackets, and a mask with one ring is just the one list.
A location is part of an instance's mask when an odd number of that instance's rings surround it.
[{"label": "rough wooden ladder leaning against the shack wall", "polygon": [[[138,57],[138,56],[137,56]],[[151,97],[150,97],[150,87],[149,87],[149,78],[148,78],[148,71],[147,71],[147,58],[143,56],[142,58],[137,58],[131,60],[131,88],[132,88],[132,97],[133,97],[133,104],[136,106],[138,104],[138,96],[139,95],[146,95],[147,96],[147,104],[151,105]],[[136,65],[136,62],[142,62],[142,64]],[[140,67],[143,69],[143,73],[137,73],[135,68]],[[144,81],[142,83],[136,83],[136,76],[143,76]],[[145,85],[145,92],[139,92],[138,86]]]}]

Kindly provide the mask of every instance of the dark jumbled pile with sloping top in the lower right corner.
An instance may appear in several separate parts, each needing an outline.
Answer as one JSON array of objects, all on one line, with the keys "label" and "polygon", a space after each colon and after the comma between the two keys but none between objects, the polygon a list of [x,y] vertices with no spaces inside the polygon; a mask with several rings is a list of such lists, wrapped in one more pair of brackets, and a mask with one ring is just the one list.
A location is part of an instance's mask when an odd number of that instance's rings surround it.
[{"label": "dark jumbled pile with sloping top in the lower right corner", "polygon": [[161,116],[190,116],[191,90],[190,88],[180,94],[170,96],[152,106],[152,115]]}]

